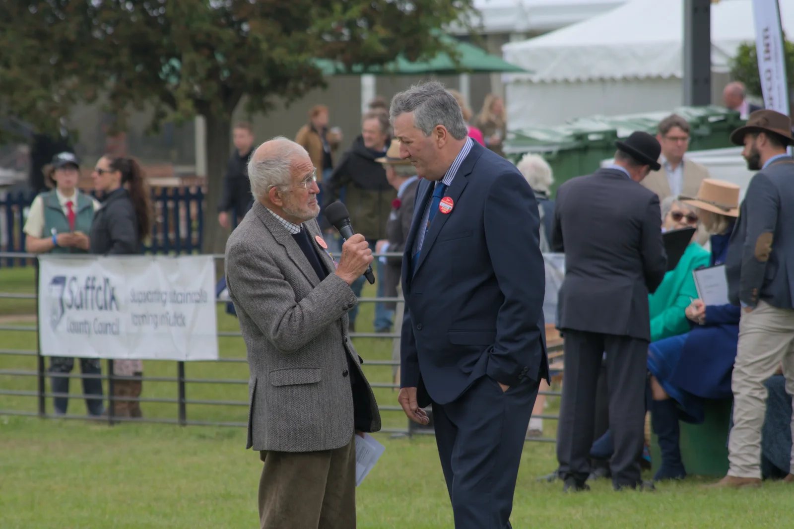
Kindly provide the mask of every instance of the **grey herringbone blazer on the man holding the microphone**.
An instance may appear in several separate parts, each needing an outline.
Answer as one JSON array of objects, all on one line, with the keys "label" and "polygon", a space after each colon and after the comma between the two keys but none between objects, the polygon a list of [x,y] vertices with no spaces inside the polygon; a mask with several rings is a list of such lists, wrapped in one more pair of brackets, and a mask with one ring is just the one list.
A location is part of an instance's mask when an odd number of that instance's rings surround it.
[{"label": "grey herringbone blazer on the man holding the microphone", "polygon": [[[317,222],[303,227],[333,271],[333,260],[315,241]],[[333,273],[321,282],[292,235],[260,203],[229,237],[225,272],[248,349],[246,448],[310,452],[349,443],[351,365],[363,381],[357,405],[368,408],[368,431],[380,430],[375,396],[348,335],[347,312],[358,303],[349,285]]]}]

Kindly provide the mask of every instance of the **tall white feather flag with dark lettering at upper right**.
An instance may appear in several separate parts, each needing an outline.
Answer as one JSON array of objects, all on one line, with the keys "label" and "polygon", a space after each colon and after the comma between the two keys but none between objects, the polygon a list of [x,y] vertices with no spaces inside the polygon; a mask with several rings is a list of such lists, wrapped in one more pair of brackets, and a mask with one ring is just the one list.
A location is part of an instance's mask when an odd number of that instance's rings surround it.
[{"label": "tall white feather flag with dark lettering at upper right", "polygon": [[788,83],[783,48],[781,11],[777,0],[753,0],[755,49],[764,108],[788,116]]}]

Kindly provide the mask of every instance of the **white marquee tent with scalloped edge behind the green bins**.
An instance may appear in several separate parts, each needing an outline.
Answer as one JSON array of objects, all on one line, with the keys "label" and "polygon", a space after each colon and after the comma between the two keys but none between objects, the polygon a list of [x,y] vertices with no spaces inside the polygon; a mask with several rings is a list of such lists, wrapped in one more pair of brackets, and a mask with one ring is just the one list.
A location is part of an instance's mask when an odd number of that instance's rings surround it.
[{"label": "white marquee tent with scalloped edge behind the green bins", "polygon": [[[783,29],[794,34],[794,0],[780,6]],[[683,34],[684,0],[630,0],[541,37],[506,44],[504,59],[534,72],[506,79],[510,128],[680,106]],[[738,45],[754,39],[752,0],[712,4],[712,71],[727,72]]]}]

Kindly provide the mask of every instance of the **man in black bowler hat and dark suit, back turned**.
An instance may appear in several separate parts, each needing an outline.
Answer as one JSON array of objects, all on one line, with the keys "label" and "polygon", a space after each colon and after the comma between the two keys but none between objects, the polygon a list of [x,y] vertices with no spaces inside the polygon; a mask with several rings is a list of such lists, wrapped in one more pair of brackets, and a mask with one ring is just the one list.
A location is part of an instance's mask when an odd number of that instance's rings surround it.
[{"label": "man in black bowler hat and dark suit, back turned", "polygon": [[[587,490],[595,388],[607,354],[611,459],[615,489],[642,484],[648,294],[665,276],[657,195],[639,185],[660,168],[661,147],[648,133],[618,141],[615,164],[557,190],[552,250],[565,253],[558,327],[565,333],[557,459],[566,491]],[[618,207],[615,204],[619,204]]]}]

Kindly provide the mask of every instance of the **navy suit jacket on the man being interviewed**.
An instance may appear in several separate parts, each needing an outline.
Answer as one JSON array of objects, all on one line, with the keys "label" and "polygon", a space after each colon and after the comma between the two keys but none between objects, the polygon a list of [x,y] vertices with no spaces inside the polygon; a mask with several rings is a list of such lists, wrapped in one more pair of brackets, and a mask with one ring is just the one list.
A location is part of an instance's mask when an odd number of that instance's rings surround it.
[{"label": "navy suit jacket on the man being interviewed", "polygon": [[475,143],[445,196],[411,274],[434,182],[420,180],[403,255],[403,388],[448,404],[482,376],[515,386],[549,378],[538,203],[513,164]]}]

